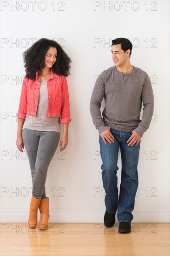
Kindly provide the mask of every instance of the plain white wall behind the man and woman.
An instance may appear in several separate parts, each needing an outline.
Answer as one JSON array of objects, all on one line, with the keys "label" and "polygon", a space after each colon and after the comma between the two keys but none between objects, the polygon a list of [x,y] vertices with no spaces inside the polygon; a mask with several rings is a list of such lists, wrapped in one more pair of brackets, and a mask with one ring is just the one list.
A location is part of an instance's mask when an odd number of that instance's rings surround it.
[{"label": "plain white wall behind the man and woman", "polygon": [[[18,10],[12,4],[1,1],[1,222],[28,218],[31,172],[26,153],[16,148],[15,116],[26,74],[22,53],[42,37],[58,40],[72,59],[69,144],[62,156],[58,147],[46,180],[50,222],[103,222],[102,163],[89,105],[95,76],[113,66],[117,37],[133,43],[131,64],[149,74],[155,97],[155,115],[141,139],[133,222],[168,222],[169,1],[55,1],[53,10],[49,0],[35,2],[33,11],[30,1],[18,1]],[[120,183],[120,159],[118,166]]]}]

